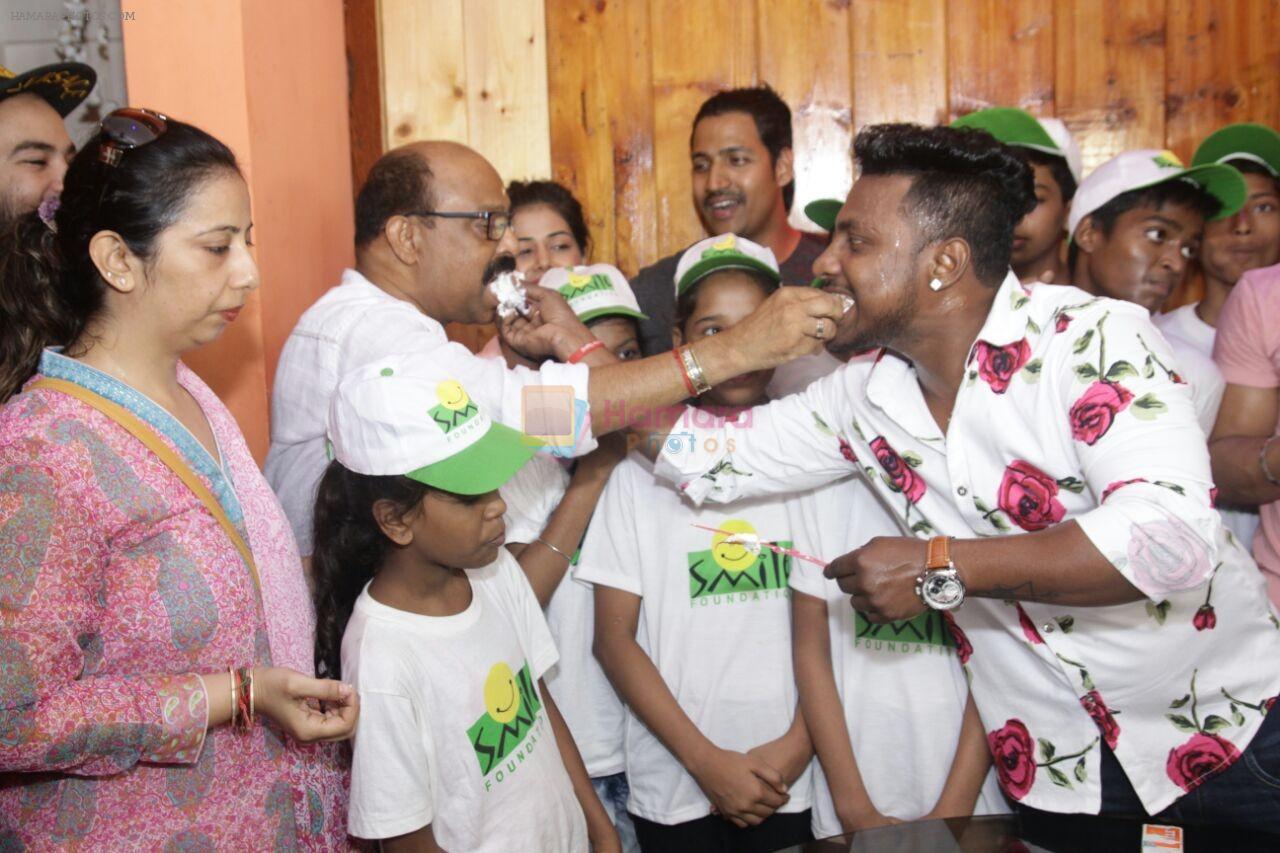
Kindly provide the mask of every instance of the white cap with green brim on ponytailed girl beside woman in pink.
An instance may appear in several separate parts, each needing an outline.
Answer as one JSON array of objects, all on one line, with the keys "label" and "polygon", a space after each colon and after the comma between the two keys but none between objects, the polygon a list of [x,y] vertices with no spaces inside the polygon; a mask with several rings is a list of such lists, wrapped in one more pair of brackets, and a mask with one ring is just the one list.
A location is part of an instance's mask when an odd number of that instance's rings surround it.
[{"label": "white cap with green brim on ponytailed girl beside woman in pink", "polygon": [[333,457],[357,474],[403,475],[456,494],[498,488],[538,442],[494,423],[431,353],[352,370],[329,403]]}]

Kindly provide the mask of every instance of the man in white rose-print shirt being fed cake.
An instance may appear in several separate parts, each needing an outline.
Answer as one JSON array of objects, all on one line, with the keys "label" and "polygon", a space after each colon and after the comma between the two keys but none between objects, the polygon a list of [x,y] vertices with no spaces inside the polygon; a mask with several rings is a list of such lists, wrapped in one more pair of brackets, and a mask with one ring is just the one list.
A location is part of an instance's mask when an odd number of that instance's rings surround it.
[{"label": "man in white rose-print shirt being fed cake", "polygon": [[1019,284],[1032,182],[989,137],[876,126],[855,154],[814,269],[854,300],[828,348],[879,357],[694,428],[658,475],[701,502],[863,473],[918,537],[828,566],[876,621],[925,610],[925,539],[955,537],[946,616],[1023,807],[1280,831],[1280,621],[1148,311]]}]

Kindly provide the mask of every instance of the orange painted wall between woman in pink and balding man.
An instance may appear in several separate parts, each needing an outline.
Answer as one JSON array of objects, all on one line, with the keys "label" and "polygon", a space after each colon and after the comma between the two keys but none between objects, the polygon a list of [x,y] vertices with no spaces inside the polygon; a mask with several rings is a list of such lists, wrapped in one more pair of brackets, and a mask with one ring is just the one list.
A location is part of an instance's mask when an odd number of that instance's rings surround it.
[{"label": "orange painted wall between woman in pink and balding man", "polygon": [[253,201],[262,284],[188,355],[262,461],[275,362],[298,315],[353,263],[340,0],[124,0],[129,104],[229,145]]}]

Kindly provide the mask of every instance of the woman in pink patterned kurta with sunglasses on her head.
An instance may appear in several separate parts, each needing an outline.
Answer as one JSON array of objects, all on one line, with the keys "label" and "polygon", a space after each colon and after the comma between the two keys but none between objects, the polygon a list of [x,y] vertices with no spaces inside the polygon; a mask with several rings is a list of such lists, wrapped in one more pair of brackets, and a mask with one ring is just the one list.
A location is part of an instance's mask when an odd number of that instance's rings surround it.
[{"label": "woman in pink patterned kurta with sunglasses on her head", "polygon": [[[27,297],[0,300],[0,397],[35,370],[132,412],[216,498],[260,589],[138,438],[61,391],[28,383],[9,398],[0,849],[342,847],[338,748],[303,742],[347,736],[355,697],[311,678],[314,616],[288,523],[230,412],[178,361],[257,283],[247,225],[207,228],[247,220],[243,181],[221,143],[178,122],[116,167],[96,161],[102,145],[73,161],[56,236],[32,219],[0,246],[0,284]],[[123,254],[100,251],[101,232]],[[37,286],[52,295],[44,305]],[[244,731],[227,725],[228,666],[252,667]]]}]

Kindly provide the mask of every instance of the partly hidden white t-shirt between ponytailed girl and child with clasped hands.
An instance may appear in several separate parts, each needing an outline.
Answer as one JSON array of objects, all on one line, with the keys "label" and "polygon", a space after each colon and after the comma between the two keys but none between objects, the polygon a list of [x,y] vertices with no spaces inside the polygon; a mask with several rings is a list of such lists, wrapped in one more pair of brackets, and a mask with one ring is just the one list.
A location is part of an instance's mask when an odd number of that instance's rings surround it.
[{"label": "partly hidden white t-shirt between ponytailed girl and child with clasped hands", "polygon": [[[538,453],[499,492],[507,503],[507,542],[532,542],[568,488],[564,466]],[[573,555],[575,560],[577,553]],[[559,662],[547,671],[547,689],[573,734],[582,763],[593,779],[622,772],[622,701],[591,654],[595,602],[589,584],[570,573],[547,605],[547,624],[559,649]]]}]

